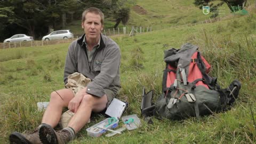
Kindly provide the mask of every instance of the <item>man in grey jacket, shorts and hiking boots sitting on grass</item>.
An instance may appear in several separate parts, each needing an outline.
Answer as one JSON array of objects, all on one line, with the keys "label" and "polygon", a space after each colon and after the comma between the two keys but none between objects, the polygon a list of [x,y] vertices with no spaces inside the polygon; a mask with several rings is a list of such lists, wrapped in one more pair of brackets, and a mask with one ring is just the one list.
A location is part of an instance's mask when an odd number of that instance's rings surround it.
[{"label": "man in grey jacket, shorts and hiking boots sitting on grass", "polygon": [[[42,124],[30,134],[13,132],[10,143],[68,143],[89,121],[92,111],[100,112],[108,107],[121,87],[121,54],[119,46],[101,34],[103,22],[104,15],[99,9],[86,9],[82,15],[85,34],[70,44],[66,57],[65,84],[68,76],[76,72],[90,78],[91,82],[80,91],[62,89],[52,92]],[[63,107],[75,114],[67,127],[55,131],[53,127],[59,123]]]}]

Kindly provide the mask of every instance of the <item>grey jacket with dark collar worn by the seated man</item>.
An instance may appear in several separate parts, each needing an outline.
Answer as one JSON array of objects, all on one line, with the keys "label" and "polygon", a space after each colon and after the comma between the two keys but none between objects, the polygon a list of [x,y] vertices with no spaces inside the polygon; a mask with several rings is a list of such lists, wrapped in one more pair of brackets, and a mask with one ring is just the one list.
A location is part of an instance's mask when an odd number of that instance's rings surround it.
[{"label": "grey jacket with dark collar worn by the seated man", "polygon": [[64,82],[67,77],[75,72],[92,79],[87,85],[86,92],[98,97],[105,94],[104,89],[117,91],[120,86],[119,66],[121,63],[121,53],[119,46],[107,36],[101,34],[100,46],[95,51],[91,66],[85,44],[83,44],[85,34],[69,45],[64,69]]}]

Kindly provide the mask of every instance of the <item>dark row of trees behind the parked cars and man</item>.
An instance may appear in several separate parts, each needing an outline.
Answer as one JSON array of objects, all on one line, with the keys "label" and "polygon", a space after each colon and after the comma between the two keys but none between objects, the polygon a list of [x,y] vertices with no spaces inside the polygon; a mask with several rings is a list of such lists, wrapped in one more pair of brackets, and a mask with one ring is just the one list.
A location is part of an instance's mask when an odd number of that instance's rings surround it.
[{"label": "dark row of trees behind the parked cars and man", "polygon": [[65,28],[68,22],[81,20],[88,7],[98,7],[117,27],[129,20],[135,0],[0,0],[0,41],[23,33],[41,38],[50,29]]}]

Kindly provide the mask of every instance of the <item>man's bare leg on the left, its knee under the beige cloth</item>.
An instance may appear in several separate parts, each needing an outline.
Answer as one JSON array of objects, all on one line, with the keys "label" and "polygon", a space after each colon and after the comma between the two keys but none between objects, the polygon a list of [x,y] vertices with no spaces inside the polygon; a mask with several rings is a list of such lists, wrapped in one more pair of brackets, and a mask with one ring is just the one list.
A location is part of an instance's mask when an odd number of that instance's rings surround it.
[{"label": "man's bare leg on the left, its knee under the beige cloth", "polygon": [[50,103],[42,118],[42,123],[49,124],[52,127],[55,127],[59,123],[62,108],[68,107],[69,101],[74,98],[73,92],[69,89],[62,89],[57,92],[60,95],[56,92],[51,93]]}]

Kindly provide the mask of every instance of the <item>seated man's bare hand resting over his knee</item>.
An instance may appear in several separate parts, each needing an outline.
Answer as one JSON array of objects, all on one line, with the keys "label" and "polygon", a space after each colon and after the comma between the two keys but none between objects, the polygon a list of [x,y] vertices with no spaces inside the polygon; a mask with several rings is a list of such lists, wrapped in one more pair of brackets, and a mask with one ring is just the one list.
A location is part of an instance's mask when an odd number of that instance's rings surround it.
[{"label": "seated man's bare hand resting over his knee", "polygon": [[71,110],[73,113],[76,113],[85,94],[87,94],[86,87],[83,90],[76,93],[75,97],[69,101],[68,109]]}]

